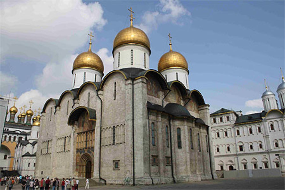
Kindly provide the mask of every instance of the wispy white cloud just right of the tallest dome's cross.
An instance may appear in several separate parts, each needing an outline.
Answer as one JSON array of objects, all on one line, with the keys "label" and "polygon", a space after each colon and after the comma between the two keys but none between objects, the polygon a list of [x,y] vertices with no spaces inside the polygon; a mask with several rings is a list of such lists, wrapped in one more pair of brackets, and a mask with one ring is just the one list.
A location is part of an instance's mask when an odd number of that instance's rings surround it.
[{"label": "wispy white cloud just right of the tallest dome's cross", "polygon": [[[158,10],[154,12],[146,11],[143,15],[142,23],[136,26],[148,33],[157,29],[158,24],[161,23],[172,22],[177,25],[183,25],[181,17],[191,16],[191,13],[178,0],[160,0],[157,8]],[[178,19],[180,19],[179,22]]]}]

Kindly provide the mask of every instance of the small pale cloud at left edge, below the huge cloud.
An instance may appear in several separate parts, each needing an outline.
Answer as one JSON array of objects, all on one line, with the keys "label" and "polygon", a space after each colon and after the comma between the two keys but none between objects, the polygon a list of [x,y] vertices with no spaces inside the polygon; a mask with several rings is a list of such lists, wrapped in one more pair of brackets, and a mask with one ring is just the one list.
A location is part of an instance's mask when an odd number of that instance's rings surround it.
[{"label": "small pale cloud at left edge, below the huge cloud", "polygon": [[0,93],[1,95],[8,94],[9,91],[16,90],[17,83],[18,83],[18,78],[16,76],[7,75],[3,73],[2,71],[0,71]]}]

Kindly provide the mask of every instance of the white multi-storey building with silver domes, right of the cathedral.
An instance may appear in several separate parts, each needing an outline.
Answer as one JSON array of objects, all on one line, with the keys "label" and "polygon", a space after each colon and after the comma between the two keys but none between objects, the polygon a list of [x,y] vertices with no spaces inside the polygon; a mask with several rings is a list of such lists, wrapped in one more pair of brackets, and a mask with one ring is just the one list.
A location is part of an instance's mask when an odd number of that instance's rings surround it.
[{"label": "white multi-storey building with silver domes, right of the cathedral", "polygon": [[283,76],[277,93],[281,109],[266,87],[260,113],[242,115],[222,108],[210,114],[216,170],[280,168],[285,173]]}]

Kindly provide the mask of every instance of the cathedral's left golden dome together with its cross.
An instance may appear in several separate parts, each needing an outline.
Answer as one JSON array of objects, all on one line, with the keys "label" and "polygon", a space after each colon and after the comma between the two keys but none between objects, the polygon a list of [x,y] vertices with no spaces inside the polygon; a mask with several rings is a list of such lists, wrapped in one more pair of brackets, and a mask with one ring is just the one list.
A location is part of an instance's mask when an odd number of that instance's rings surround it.
[{"label": "cathedral's left golden dome together with its cross", "polygon": [[104,65],[103,65],[101,58],[97,54],[95,54],[91,51],[92,33],[88,34],[88,35],[90,35],[89,49],[87,52],[83,52],[75,58],[75,60],[73,62],[72,72],[73,72],[73,70],[79,69],[79,68],[91,68],[91,69],[101,71],[103,73],[104,72]]}]

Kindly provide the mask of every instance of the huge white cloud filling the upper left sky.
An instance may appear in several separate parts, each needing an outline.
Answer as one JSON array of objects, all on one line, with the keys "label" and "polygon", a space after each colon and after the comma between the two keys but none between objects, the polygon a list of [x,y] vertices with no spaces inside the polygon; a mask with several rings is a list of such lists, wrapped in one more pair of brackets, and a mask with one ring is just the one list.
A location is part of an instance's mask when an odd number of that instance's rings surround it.
[{"label": "huge white cloud filling the upper left sky", "polygon": [[86,44],[91,29],[107,23],[98,2],[81,0],[3,1],[0,12],[2,60],[58,61]]}]

